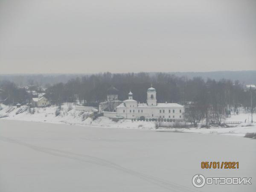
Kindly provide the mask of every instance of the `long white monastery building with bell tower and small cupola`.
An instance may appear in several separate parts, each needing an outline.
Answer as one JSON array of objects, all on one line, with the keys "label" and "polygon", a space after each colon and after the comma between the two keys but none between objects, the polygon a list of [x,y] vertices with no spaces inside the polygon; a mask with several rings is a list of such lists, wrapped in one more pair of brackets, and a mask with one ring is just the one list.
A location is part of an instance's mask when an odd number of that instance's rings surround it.
[{"label": "long white monastery building with bell tower and small cupola", "polygon": [[124,119],[169,119],[184,120],[184,106],[177,103],[157,103],[157,92],[153,87],[147,90],[147,103],[138,103],[133,93],[116,107],[116,112],[104,113],[104,116],[122,116]]}]

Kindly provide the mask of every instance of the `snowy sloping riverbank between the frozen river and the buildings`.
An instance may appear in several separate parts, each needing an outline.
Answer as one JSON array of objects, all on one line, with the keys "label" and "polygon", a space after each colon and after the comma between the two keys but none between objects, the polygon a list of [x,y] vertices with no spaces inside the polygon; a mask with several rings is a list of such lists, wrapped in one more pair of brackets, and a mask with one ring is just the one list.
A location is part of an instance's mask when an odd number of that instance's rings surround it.
[{"label": "snowy sloping riverbank between the frozen river and the buildings", "polygon": [[[96,127],[105,128],[128,128],[128,129],[156,129],[154,122],[146,121],[131,121],[129,119],[119,120],[118,122],[113,122],[107,117],[99,117],[96,120],[90,118],[90,113],[83,113],[77,111],[75,106],[72,105],[70,108],[69,104],[65,103],[61,106],[61,111],[58,116],[55,115],[55,111],[58,109],[56,106],[51,106],[47,108],[35,108],[35,113],[29,113],[25,111],[23,113],[16,114],[19,108],[15,108],[13,111],[6,113],[10,108],[9,106],[1,105],[2,110],[0,110],[0,116],[8,115],[7,117],[1,119],[12,119],[12,120],[23,120],[23,121],[33,121],[33,122],[50,122],[50,123],[66,123],[70,125],[90,125]],[[26,108],[26,106],[22,106]],[[224,134],[244,137],[246,133],[256,133],[256,123],[250,123],[250,113],[239,113],[239,115],[232,115],[230,118],[225,119],[227,122],[241,121],[245,122],[236,127],[223,128],[223,127],[211,127],[211,128],[158,128],[162,131],[181,131],[181,132],[192,132],[200,134]],[[253,119],[256,119],[256,114],[253,114]]]}]

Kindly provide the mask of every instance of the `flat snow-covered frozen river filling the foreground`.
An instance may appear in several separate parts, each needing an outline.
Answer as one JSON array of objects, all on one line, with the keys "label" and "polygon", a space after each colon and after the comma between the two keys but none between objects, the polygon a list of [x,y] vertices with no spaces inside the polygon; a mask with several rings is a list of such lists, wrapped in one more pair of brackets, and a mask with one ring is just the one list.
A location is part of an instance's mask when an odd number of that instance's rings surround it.
[{"label": "flat snow-covered frozen river filling the foreground", "polygon": [[[255,192],[256,140],[0,120],[0,192]],[[239,169],[201,169],[236,161]],[[192,177],[252,177],[192,186]]]}]

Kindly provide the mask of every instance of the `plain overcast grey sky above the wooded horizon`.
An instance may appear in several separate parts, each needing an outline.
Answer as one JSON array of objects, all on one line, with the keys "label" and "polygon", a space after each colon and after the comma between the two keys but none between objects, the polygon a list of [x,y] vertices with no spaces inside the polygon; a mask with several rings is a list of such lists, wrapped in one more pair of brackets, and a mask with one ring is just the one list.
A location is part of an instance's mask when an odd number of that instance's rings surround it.
[{"label": "plain overcast grey sky above the wooded horizon", "polygon": [[256,70],[256,0],[0,0],[0,73]]}]

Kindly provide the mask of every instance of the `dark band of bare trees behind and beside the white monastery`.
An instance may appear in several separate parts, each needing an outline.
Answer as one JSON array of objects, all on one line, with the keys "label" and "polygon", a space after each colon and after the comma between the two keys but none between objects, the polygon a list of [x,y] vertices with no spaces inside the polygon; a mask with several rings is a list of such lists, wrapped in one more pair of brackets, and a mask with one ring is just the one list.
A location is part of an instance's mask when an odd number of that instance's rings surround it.
[{"label": "dark band of bare trees behind and beside the white monastery", "polygon": [[[97,107],[106,100],[108,88],[114,86],[118,89],[119,100],[127,99],[131,90],[135,100],[145,103],[146,92],[151,84],[157,90],[157,102],[186,105],[185,115],[194,124],[210,114],[215,116],[217,122],[221,122],[221,118],[230,111],[238,111],[241,107],[250,108],[251,105],[250,93],[239,81],[204,80],[201,77],[188,79],[168,73],[156,73],[153,76],[149,73],[93,74],[49,86],[45,96],[56,105],[79,99],[84,105]],[[9,96],[9,103],[13,100],[25,102],[26,91],[18,89],[14,83],[1,81],[0,88],[2,95]],[[256,93],[253,92],[253,111],[255,106]]]}]

